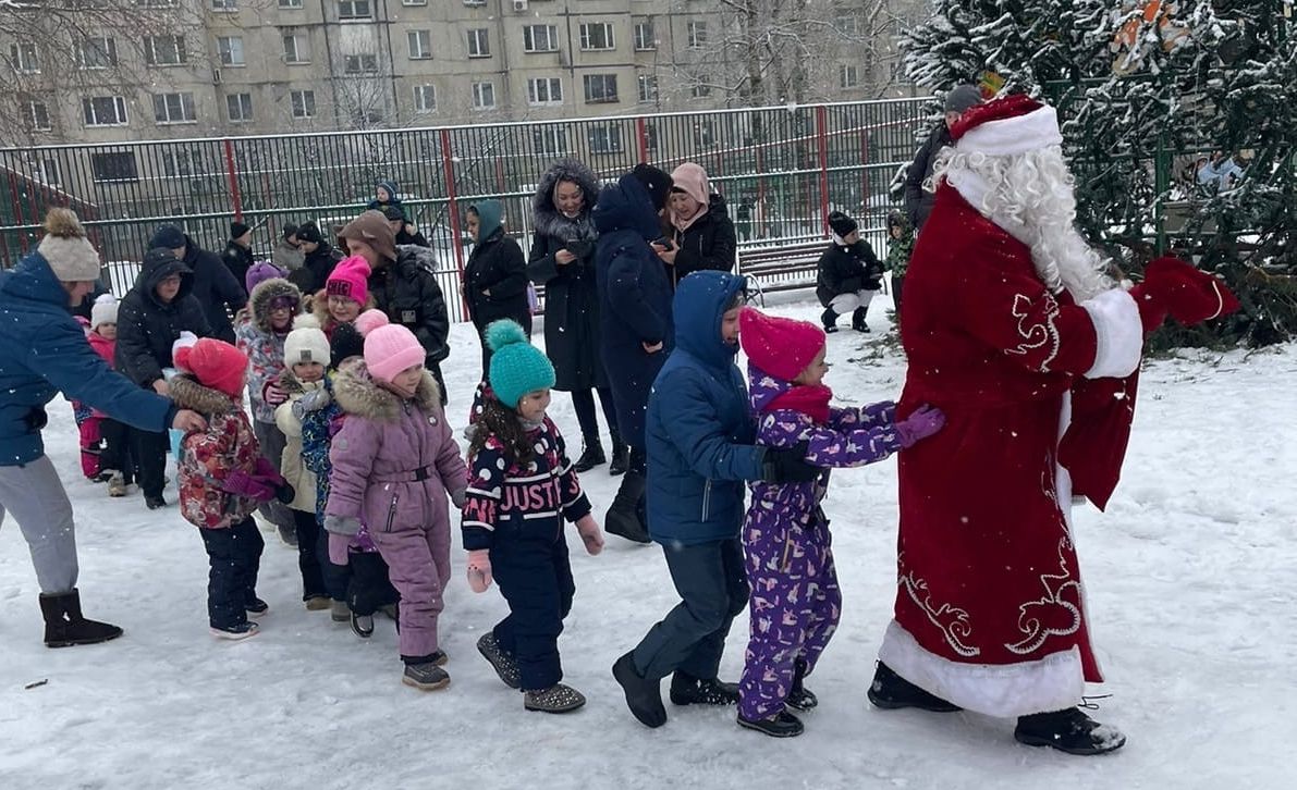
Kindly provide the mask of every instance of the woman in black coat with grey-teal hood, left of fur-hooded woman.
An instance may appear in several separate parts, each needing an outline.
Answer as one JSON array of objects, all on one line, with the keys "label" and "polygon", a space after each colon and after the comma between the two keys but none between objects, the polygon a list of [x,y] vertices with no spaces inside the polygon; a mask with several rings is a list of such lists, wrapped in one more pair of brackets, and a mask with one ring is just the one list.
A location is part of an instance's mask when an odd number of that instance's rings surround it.
[{"label": "woman in black coat with grey-teal hood, left of fur-hooded woman", "polygon": [[464,264],[464,300],[482,344],[482,381],[486,381],[492,356],[486,328],[493,321],[512,319],[532,334],[532,306],[527,300],[529,281],[523,247],[505,234],[505,206],[499,201],[477,201],[467,214],[466,225],[475,243]]}]

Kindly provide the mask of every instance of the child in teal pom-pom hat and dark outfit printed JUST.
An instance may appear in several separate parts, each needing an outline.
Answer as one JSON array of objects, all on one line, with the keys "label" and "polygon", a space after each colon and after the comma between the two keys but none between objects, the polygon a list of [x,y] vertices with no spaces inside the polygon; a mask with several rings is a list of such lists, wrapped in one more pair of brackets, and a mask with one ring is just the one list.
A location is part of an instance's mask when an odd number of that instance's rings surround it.
[{"label": "child in teal pom-pom hat and dark outfit printed JUST", "polygon": [[463,537],[470,585],[485,592],[498,580],[508,616],[477,650],[505,685],[524,692],[524,708],[564,714],[585,697],[559,683],[558,638],[576,593],[563,521],[576,525],[590,554],[603,550],[603,535],[563,435],[545,416],[554,365],[515,321],[495,321],[484,341],[493,351],[490,389],[468,448]]}]

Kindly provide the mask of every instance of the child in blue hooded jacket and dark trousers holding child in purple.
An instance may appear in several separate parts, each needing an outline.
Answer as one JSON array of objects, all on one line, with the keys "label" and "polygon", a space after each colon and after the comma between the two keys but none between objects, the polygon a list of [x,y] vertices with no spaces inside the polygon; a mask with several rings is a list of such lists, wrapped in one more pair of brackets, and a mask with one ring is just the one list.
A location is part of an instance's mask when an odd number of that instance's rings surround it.
[{"label": "child in blue hooded jacket and dark trousers holding child in purple", "polygon": [[612,675],[642,724],[661,727],[659,681],[676,705],[734,705],[717,680],[725,636],[747,605],[739,523],[746,480],[808,482],[805,447],[756,447],[747,386],[734,364],[744,278],[694,272],[673,300],[676,348],[652,385],[647,413],[648,532],[667,556],[682,601]]}]

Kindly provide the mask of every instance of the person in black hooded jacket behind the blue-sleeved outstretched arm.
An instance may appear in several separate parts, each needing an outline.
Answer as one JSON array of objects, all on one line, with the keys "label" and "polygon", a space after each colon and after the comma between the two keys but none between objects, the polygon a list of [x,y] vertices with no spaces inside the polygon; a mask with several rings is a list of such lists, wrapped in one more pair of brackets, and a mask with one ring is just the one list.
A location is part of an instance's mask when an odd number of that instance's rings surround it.
[{"label": "person in black hooded jacket behind the blue-sleeved outstretched arm", "polygon": [[[180,339],[182,332],[197,337],[211,334],[202,306],[193,295],[193,272],[171,250],[154,247],[144,255],[135,288],[122,297],[117,310],[115,364],[145,390],[167,394],[162,369],[173,367],[171,346]],[[166,504],[162,488],[169,448],[165,433],[131,429],[137,479],[150,509]]]}]

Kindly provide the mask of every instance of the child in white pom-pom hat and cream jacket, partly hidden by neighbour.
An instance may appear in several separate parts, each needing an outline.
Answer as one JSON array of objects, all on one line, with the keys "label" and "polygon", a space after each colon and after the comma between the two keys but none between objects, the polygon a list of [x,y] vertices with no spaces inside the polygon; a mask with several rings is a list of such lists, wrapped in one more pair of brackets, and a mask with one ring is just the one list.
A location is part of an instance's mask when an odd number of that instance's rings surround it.
[{"label": "child in white pom-pom hat and cream jacket, partly hidden by neighbour", "polygon": [[302,316],[296,329],[284,339],[284,373],[279,387],[288,400],[275,408],[275,426],[284,434],[284,455],[280,474],[293,487],[297,496],[288,502],[297,532],[297,567],[302,574],[302,601],[311,611],[329,609],[328,591],[318,553],[327,550],[319,544],[319,523],[315,521],[315,474],[302,464],[302,420],[293,407],[310,392],[324,391],[324,370],[329,364],[329,346],[324,332],[310,316]]}]

